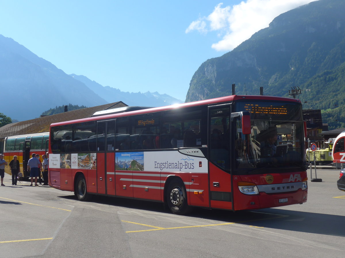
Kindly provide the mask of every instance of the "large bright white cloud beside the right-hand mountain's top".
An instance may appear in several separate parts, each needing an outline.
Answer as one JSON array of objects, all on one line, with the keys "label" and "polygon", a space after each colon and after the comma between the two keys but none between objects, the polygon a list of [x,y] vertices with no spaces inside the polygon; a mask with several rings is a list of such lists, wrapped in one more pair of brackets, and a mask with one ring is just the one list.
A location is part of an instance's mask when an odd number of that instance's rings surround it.
[{"label": "large bright white cloud beside the right-hand mountain's top", "polygon": [[193,30],[206,34],[217,31],[222,39],[212,44],[217,51],[230,51],[255,32],[268,27],[279,14],[314,0],[247,0],[232,7],[217,4],[207,17],[192,22],[186,33]]}]

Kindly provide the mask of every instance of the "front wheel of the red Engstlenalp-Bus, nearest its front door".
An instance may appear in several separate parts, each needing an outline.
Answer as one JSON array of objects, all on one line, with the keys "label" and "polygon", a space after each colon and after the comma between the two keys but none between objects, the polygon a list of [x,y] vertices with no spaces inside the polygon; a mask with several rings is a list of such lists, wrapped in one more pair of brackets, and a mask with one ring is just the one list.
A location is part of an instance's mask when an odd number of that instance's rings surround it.
[{"label": "front wheel of the red Engstlenalp-Bus, nearest its front door", "polygon": [[191,212],[188,206],[185,186],[180,180],[172,180],[166,192],[166,200],[170,211],[177,215],[185,215]]}]

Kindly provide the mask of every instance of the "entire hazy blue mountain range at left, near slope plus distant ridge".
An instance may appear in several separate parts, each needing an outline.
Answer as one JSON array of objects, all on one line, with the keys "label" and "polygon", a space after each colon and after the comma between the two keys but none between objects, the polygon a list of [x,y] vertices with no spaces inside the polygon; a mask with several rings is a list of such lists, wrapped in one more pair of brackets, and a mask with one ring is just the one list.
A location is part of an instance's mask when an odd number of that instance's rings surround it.
[{"label": "entire hazy blue mountain range at left, near slope plus distant ridge", "polygon": [[167,106],[183,101],[166,94],[129,93],[68,75],[11,38],[0,35],[1,112],[12,120],[39,117],[44,110],[72,105],[93,107],[122,101],[129,106]]}]

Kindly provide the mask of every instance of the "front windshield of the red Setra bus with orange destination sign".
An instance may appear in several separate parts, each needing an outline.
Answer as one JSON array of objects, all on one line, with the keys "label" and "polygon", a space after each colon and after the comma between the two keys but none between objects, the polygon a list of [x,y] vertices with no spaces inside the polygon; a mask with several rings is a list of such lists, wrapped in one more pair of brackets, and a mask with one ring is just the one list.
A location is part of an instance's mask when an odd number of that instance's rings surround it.
[{"label": "front windshield of the red Setra bus with orange destination sign", "polygon": [[[279,172],[305,166],[302,106],[294,102],[241,101],[235,111],[249,111],[251,133],[242,133],[234,120],[235,168],[242,173],[262,173],[279,167]],[[288,168],[284,170],[283,168]]]}]

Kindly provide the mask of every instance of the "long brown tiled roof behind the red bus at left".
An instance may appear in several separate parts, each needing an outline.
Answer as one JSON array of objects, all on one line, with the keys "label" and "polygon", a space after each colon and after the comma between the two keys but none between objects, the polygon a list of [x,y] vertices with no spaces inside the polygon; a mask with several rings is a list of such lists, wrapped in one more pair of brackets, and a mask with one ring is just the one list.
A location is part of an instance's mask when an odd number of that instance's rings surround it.
[{"label": "long brown tiled roof behind the red bus at left", "polygon": [[0,145],[4,139],[9,136],[26,135],[29,133],[49,132],[51,123],[76,120],[81,118],[92,117],[92,115],[101,110],[108,110],[119,107],[127,107],[122,101],[100,105],[96,107],[82,108],[64,113],[39,117],[31,120],[10,123],[0,127]]}]

